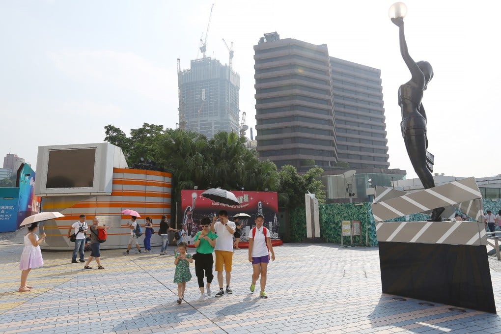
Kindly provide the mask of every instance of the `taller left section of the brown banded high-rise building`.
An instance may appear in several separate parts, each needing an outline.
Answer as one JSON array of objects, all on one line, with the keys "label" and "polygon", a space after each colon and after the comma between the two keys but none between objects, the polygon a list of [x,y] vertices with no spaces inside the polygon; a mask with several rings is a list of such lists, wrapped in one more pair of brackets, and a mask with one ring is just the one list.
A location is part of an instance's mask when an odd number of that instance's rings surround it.
[{"label": "taller left section of the brown banded high-rise building", "polygon": [[298,170],[333,166],[337,153],[327,46],[281,40],[271,33],[254,51],[260,159]]}]

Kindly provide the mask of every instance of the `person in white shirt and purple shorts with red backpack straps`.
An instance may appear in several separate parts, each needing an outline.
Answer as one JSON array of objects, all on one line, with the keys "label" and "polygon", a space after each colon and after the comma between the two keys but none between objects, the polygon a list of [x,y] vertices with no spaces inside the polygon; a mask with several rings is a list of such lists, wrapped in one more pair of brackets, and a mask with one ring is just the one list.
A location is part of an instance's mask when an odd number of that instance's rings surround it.
[{"label": "person in white shirt and purple shorts with red backpack straps", "polygon": [[261,298],[268,298],[265,293],[268,263],[270,262],[270,253],[272,253],[272,261],[275,261],[275,252],[273,251],[272,241],[270,238],[270,230],[263,226],[265,217],[263,215],[256,216],[256,227],[249,231],[249,262],[252,263],[253,274],[252,283],[250,283],[250,292],[254,292],[256,282],[261,274]]}]

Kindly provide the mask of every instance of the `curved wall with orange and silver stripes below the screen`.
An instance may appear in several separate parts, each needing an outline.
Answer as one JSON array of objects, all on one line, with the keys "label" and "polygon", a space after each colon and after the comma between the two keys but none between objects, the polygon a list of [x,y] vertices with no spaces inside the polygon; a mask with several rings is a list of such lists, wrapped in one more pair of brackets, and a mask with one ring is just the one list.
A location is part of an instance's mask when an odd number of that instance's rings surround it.
[{"label": "curved wall with orange and silver stripes below the screen", "polygon": [[[86,215],[87,224],[92,224],[95,216],[112,216],[119,219],[120,227],[108,230],[108,239],[101,248],[125,248],[128,245],[130,229],[127,222],[130,216],[121,214],[124,209],[137,211],[141,218],[137,221],[144,226],[144,218],[153,219],[155,230],[158,230],[160,218],[166,215],[170,219],[171,186],[170,173],[114,168],[113,189],[110,196],[70,195],[48,196],[42,198],[42,211],[59,211],[65,215],[43,225],[47,237],[42,244],[44,249],[71,249],[73,243],[67,237],[70,226],[79,220],[81,214]],[[116,217],[119,218],[116,218]],[[139,238],[141,247],[143,237]],[[151,244],[159,245],[160,237],[153,235]]]}]

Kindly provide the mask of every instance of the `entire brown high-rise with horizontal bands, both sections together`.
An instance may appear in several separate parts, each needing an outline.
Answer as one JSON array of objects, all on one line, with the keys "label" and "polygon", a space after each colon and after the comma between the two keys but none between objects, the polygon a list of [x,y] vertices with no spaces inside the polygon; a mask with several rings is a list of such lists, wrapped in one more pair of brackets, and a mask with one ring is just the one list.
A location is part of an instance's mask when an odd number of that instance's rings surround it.
[{"label": "entire brown high-rise with horizontal bands, both sections together", "polygon": [[261,159],[298,170],[389,167],[380,70],[277,33],[254,50]]}]

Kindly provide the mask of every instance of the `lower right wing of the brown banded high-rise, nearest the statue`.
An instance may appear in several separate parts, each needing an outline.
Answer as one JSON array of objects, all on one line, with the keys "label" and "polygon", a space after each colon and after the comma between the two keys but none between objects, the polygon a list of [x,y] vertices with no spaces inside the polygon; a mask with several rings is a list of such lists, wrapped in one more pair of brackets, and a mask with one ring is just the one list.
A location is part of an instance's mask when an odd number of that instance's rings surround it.
[{"label": "lower right wing of the brown banded high-rise, nearest the statue", "polygon": [[338,161],[388,168],[381,71],[330,57]]}]

